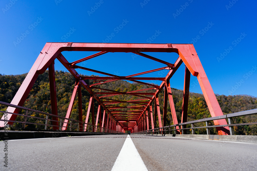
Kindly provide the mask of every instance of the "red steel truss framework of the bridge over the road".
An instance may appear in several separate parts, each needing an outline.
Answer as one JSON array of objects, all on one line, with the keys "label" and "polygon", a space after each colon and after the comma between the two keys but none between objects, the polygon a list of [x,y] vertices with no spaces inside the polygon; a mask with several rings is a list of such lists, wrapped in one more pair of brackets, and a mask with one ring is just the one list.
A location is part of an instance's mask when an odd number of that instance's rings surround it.
[{"label": "red steel truss framework of the bridge over the road", "polygon": [[[96,52],[93,55],[87,56],[85,58],[79,59],[77,61],[67,61],[67,59],[62,55],[63,51],[90,51]],[[115,52],[125,52],[134,53],[145,58],[151,59],[153,61],[165,64],[167,66],[162,68],[153,69],[150,71],[145,71],[141,73],[136,73],[128,76],[118,76],[110,73],[105,73],[102,71],[82,67],[79,64],[86,60],[92,58],[97,58],[100,55],[106,53]],[[163,53],[177,53],[179,57],[176,61],[162,61],[153,56],[145,54],[145,52],[163,52]],[[63,66],[75,77],[76,83],[74,85],[74,90],[72,96],[70,97],[69,107],[66,113],[66,117],[63,118],[63,122],[59,122],[58,118],[58,106],[56,97],[56,83],[55,83],[55,70],[54,70],[54,60],[58,59]],[[111,60],[111,59],[110,59]],[[209,80],[205,74],[204,68],[201,65],[199,57],[196,50],[192,44],[127,44],[127,43],[46,43],[42,51],[40,52],[38,58],[36,59],[31,70],[27,74],[25,80],[23,81],[21,87],[14,96],[11,105],[23,106],[27,96],[29,95],[32,86],[34,85],[36,79],[40,74],[43,74],[47,69],[49,71],[49,83],[50,83],[50,94],[51,94],[51,109],[52,109],[52,126],[53,129],[59,129],[59,123],[61,123],[61,130],[67,130],[69,128],[69,120],[73,104],[78,94],[78,111],[79,111],[79,121],[78,130],[86,131],[88,127],[89,115],[92,115],[92,125],[99,123],[101,130],[106,128],[108,130],[115,130],[118,132],[125,133],[126,130],[130,130],[132,133],[141,132],[156,128],[157,117],[159,122],[159,127],[166,126],[166,116],[167,116],[167,103],[169,101],[171,114],[173,119],[173,124],[175,126],[176,134],[180,134],[180,127],[178,126],[178,120],[176,116],[176,111],[174,107],[174,102],[172,99],[172,90],[170,87],[170,78],[181,66],[185,64],[185,77],[184,77],[184,90],[183,90],[183,104],[182,104],[182,118],[181,123],[187,122],[187,111],[188,111],[188,99],[189,99],[189,85],[190,76],[195,76],[198,79],[201,90],[203,92],[204,98],[208,105],[210,114],[212,117],[222,117],[222,110],[217,102],[213,89],[209,83]],[[99,76],[81,76],[75,69],[80,68],[87,71],[99,73],[106,75],[105,77]],[[152,73],[155,71],[169,70],[165,77],[137,77],[144,74]],[[100,68],[99,68],[100,70]],[[87,85],[85,80],[92,79],[95,81],[94,84]],[[109,89],[100,88],[98,85],[106,84],[109,82],[114,82],[117,80],[128,80],[135,83],[144,84],[150,86],[151,88],[140,89],[130,92],[120,92]],[[159,80],[162,81],[160,85],[145,83],[144,80]],[[82,101],[81,101],[81,88],[86,89],[90,93],[89,106],[87,110],[86,119],[82,120]],[[164,102],[163,102],[163,113],[160,113],[159,98],[158,95],[164,88]],[[153,91],[154,90],[154,91]],[[118,95],[131,95],[136,96],[137,99],[122,101],[116,100],[113,97]],[[168,100],[169,99],[169,100]],[[98,102],[98,112],[97,118],[94,118],[94,100]],[[121,105],[126,103],[127,105]],[[154,109],[152,105],[154,104]],[[8,125],[12,124],[21,108],[15,108],[9,106],[7,108]],[[103,115],[101,111],[103,110]],[[154,111],[154,112],[153,112]],[[162,117],[161,117],[162,115]],[[163,118],[163,119],[161,119]],[[48,118],[47,118],[48,119]],[[0,127],[4,127],[4,116],[0,121]],[[49,120],[49,119],[48,119]],[[98,122],[99,120],[99,122]],[[214,125],[222,125],[216,127],[219,135],[230,135],[230,128],[227,125],[225,118],[214,120]],[[183,127],[182,127],[183,128]],[[182,131],[181,131],[182,132]]]}]

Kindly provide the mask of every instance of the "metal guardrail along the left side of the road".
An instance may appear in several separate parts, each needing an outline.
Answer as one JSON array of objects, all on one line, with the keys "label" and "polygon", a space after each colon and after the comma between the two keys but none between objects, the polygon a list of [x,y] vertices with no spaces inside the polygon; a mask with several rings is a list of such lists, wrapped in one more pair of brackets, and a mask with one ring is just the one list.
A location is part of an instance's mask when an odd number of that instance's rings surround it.
[{"label": "metal guardrail along the left side of the road", "polygon": [[[57,115],[52,115],[52,114],[49,114],[49,113],[41,112],[41,111],[34,110],[34,109],[29,109],[29,108],[22,107],[22,106],[17,106],[17,105],[13,105],[13,104],[1,102],[1,101],[0,101],[0,104],[8,106],[8,107],[10,106],[10,107],[14,107],[14,108],[18,108],[18,109],[23,109],[24,110],[24,114],[11,113],[11,112],[8,112],[8,111],[0,111],[1,113],[4,113],[4,116],[6,116],[8,114],[14,114],[14,115],[23,116],[23,121],[0,119],[0,121],[4,121],[4,122],[22,123],[22,127],[21,128],[25,128],[26,124],[33,124],[33,125],[44,125],[45,126],[44,129],[47,130],[48,126],[56,126],[56,125],[48,124],[48,121],[54,121],[54,122],[58,122],[59,123],[59,125],[57,127],[59,127],[58,130],[61,130],[61,128],[63,127],[62,124],[64,123],[62,121],[67,119],[68,120],[67,125],[70,125],[70,126],[65,126],[65,127],[67,129],[69,128],[70,131],[71,130],[73,130],[73,131],[77,130],[78,132],[100,132],[100,133],[115,133],[115,134],[116,133],[120,133],[120,134],[124,134],[123,132],[115,131],[115,130],[112,130],[112,129],[107,129],[107,128],[104,128],[104,127],[92,125],[92,124],[85,123],[85,122],[80,122],[80,121],[74,120],[74,119],[69,119],[69,118],[65,118],[65,117],[61,117],[61,116],[57,116]],[[28,114],[29,111],[46,115],[46,117],[42,118],[42,117],[30,116]],[[49,119],[49,116],[54,116],[54,117],[57,117],[59,119],[58,119],[58,121],[57,120],[52,120],[52,119]],[[45,124],[27,122],[27,118],[28,117],[29,118],[35,118],[35,119],[43,119],[43,120],[45,120]],[[83,126],[83,129],[82,129],[83,131],[79,131],[81,129],[81,128],[79,128],[80,125]],[[85,126],[87,126],[87,129],[86,129],[87,131],[84,131]]]}]

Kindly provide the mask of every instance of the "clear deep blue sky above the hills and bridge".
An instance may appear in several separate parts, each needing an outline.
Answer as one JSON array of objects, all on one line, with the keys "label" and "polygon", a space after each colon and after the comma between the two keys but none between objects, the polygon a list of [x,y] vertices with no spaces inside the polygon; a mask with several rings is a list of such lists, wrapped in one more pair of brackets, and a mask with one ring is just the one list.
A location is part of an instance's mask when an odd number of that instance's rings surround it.
[{"label": "clear deep blue sky above the hills and bridge", "polygon": [[[242,0],[1,0],[0,73],[29,72],[46,42],[193,43],[214,93],[257,97],[256,6],[256,1]],[[123,28],[117,29],[122,23]],[[149,39],[157,32],[155,39]],[[91,54],[63,52],[69,62]],[[170,63],[178,57],[147,54]],[[120,62],[125,64],[117,66]],[[55,63],[56,70],[66,71],[57,59]],[[80,65],[120,76],[165,66],[128,53],[109,53]],[[182,64],[171,87],[183,89],[184,70]],[[191,92],[202,93],[196,77],[191,76],[190,84]]]}]

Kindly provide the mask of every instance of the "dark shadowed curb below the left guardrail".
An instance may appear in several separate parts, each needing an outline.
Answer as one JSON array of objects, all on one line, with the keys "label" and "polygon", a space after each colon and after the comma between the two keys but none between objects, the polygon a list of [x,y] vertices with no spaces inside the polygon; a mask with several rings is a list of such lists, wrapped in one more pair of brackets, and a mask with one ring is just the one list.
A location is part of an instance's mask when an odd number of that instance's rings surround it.
[{"label": "dark shadowed curb below the left guardrail", "polygon": [[111,133],[83,133],[83,132],[37,132],[37,131],[0,131],[0,140],[30,139],[30,138],[55,138],[68,136],[110,135]]}]

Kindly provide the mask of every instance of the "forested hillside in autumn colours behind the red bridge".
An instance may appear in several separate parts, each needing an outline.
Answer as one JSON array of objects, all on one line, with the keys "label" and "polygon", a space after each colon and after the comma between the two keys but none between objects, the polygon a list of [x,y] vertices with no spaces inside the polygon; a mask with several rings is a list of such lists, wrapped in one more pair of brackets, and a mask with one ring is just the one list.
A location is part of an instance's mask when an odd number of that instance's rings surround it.
[{"label": "forested hillside in autumn colours behind the red bridge", "polygon": [[[69,100],[72,94],[72,90],[75,84],[75,78],[67,72],[56,71],[56,91],[57,91],[57,105],[58,105],[58,115],[65,116]],[[10,103],[16,94],[17,90],[21,86],[23,80],[25,79],[26,74],[22,75],[1,75],[0,74],[0,101]],[[87,84],[93,84],[92,80],[86,80]],[[139,90],[144,88],[150,88],[147,85],[141,85],[139,83],[128,83],[127,81],[115,81],[102,85],[98,85],[99,88],[107,88],[120,92],[129,92],[133,90]],[[100,89],[94,89],[94,91],[103,91]],[[152,90],[153,92],[155,90]],[[163,95],[164,90],[159,94],[160,110],[161,114],[163,113]],[[183,91],[172,88],[172,96],[175,104],[176,114],[178,122],[181,122],[181,112],[182,112],[182,97]],[[216,95],[219,105],[224,114],[240,112],[244,110],[256,109],[257,108],[257,98],[251,97],[248,95],[234,95],[234,96],[225,96],[225,95]],[[88,108],[90,94],[82,88],[82,113],[83,120],[85,120],[86,112]],[[131,95],[116,95],[112,96],[113,99],[117,100],[133,100],[137,99],[136,96]],[[94,102],[97,106],[97,102]],[[126,106],[126,103],[120,104],[120,106]],[[154,105],[154,104],[153,104]],[[42,112],[51,113],[51,100],[50,100],[50,87],[49,87],[49,77],[48,71],[44,74],[39,75],[36,80],[33,88],[30,91],[30,94],[25,101],[24,107],[40,110]],[[6,107],[0,105],[0,110],[5,110]],[[154,106],[153,106],[154,109]],[[94,108],[95,114],[97,113],[97,108]],[[22,113],[23,111],[21,111]],[[2,117],[2,113],[0,113]],[[36,114],[32,114],[35,115]],[[203,94],[190,93],[189,94],[189,106],[188,106],[188,121],[211,117],[208,110],[207,104],[205,102]],[[78,118],[78,98],[75,100],[73,110],[71,113],[71,118],[79,120]],[[95,117],[96,118],[96,117]],[[91,122],[91,116],[90,116]],[[17,117],[16,120],[22,120],[22,117]],[[40,120],[30,119],[31,122],[41,123]],[[257,122],[257,116],[245,116],[233,118],[234,123],[247,123],[247,122]],[[167,109],[167,125],[172,125],[172,117],[170,112],[170,106],[168,103]],[[213,123],[210,123],[213,125]],[[157,120],[157,126],[158,120]],[[190,125],[188,125],[189,127]],[[205,126],[204,123],[195,124],[197,126]],[[38,127],[38,126],[36,126]],[[40,128],[40,127],[39,127]],[[257,135],[257,125],[245,125],[245,126],[235,126],[234,127],[236,135]],[[196,134],[206,134],[206,129],[196,129]],[[190,130],[188,130],[190,134]],[[211,134],[217,134],[216,129],[211,129]]]}]

